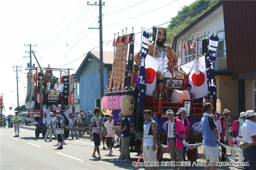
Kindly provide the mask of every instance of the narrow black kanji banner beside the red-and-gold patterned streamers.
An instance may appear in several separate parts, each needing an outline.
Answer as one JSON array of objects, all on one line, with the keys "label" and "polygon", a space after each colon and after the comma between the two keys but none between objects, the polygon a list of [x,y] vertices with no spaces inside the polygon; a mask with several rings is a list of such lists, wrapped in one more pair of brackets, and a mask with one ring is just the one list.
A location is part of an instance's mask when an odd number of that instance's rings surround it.
[{"label": "narrow black kanji banner beside the red-and-gold patterned streamers", "polygon": [[129,57],[128,57],[128,67],[126,72],[126,82],[127,88],[130,89],[132,86],[132,68],[133,68],[133,53],[134,53],[134,33],[131,33],[129,36],[130,48],[129,48]]}]

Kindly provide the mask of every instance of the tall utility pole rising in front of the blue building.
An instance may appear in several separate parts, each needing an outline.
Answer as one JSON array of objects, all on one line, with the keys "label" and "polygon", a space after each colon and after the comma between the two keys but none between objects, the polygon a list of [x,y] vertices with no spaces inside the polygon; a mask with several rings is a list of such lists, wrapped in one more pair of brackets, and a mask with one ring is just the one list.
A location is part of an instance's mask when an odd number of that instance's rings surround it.
[{"label": "tall utility pole rising in front of the blue building", "polygon": [[[87,5],[99,5],[99,28],[88,28],[88,29],[100,29],[100,102],[104,95],[104,89],[103,89],[103,41],[102,41],[102,6],[105,6],[105,2],[101,4],[101,0],[99,0],[99,4],[95,2],[94,4],[88,4]],[[100,103],[101,105],[101,103]],[[102,111],[100,109],[100,117],[104,117],[102,114]]]}]

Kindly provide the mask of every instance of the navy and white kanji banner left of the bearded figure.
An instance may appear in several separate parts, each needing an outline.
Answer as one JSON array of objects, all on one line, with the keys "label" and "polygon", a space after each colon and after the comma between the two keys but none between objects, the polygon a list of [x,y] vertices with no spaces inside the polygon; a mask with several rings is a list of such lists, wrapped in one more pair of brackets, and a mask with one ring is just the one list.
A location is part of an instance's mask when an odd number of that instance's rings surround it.
[{"label": "navy and white kanji banner left of the bearded figure", "polygon": [[145,59],[148,54],[148,38],[149,30],[145,31],[145,28],[142,30],[142,41],[141,41],[141,52],[140,52],[140,82],[139,82],[139,99],[138,99],[138,113],[142,113],[145,93],[147,88],[147,79],[146,79],[146,67]]}]

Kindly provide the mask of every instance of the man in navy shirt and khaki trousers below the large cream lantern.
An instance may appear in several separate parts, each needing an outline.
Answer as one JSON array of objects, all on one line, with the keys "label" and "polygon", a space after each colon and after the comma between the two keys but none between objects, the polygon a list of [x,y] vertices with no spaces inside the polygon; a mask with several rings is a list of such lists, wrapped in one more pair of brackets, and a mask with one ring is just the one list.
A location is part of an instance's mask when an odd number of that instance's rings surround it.
[{"label": "man in navy shirt and khaki trousers below the large cream lantern", "polygon": [[121,134],[121,154],[119,155],[116,161],[124,161],[124,162],[131,162],[130,156],[130,121],[127,117],[124,117],[123,113],[120,112],[119,115],[120,119],[122,120],[121,129],[116,132],[119,136]]}]

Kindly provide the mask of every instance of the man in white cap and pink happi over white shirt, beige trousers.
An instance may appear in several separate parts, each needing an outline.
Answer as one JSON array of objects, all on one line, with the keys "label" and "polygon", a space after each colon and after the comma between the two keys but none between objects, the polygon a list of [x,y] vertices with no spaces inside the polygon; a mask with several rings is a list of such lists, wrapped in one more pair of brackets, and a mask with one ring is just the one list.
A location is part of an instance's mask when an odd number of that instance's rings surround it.
[{"label": "man in white cap and pink happi over white shirt, beige trousers", "polygon": [[[183,123],[179,119],[174,119],[174,113],[172,110],[166,111],[169,121],[166,123],[167,131],[167,150],[170,152],[171,161],[175,161],[178,156],[178,161],[182,162],[183,146],[187,144],[185,141],[186,133]],[[178,166],[172,166],[173,170],[178,170]],[[179,166],[179,169],[185,169],[185,166]]]}]

